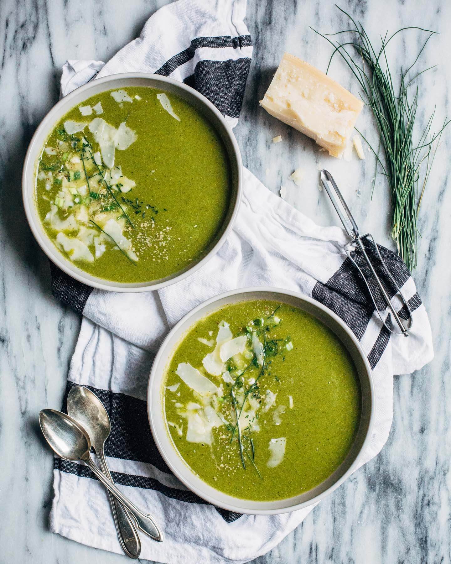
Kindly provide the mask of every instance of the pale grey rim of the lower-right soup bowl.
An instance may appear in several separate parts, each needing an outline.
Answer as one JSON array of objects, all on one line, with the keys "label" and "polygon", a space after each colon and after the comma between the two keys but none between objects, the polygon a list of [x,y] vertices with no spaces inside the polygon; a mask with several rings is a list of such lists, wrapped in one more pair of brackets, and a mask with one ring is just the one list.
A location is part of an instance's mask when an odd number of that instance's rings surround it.
[{"label": "pale grey rim of the lower-right soup bowl", "polygon": [[[312,499],[309,499],[307,501],[303,501],[302,503],[294,503],[293,505],[290,505],[290,506],[287,506],[287,507],[284,507],[284,508],[275,508],[275,509],[242,508],[239,505],[239,503],[241,501],[240,498],[234,497],[234,496],[229,496],[228,494],[224,494],[224,492],[220,492],[219,490],[215,490],[215,488],[213,486],[209,486],[209,484],[202,481],[201,478],[199,478],[199,479],[200,479],[200,482],[202,484],[205,483],[205,485],[208,486],[209,488],[213,489],[214,491],[218,491],[218,493],[220,495],[226,495],[229,498],[236,500],[236,504],[232,503],[232,502],[231,503],[228,503],[228,502],[224,503],[222,500],[215,499],[215,497],[213,495],[210,495],[209,493],[202,491],[201,487],[197,487],[197,486],[193,485],[192,483],[190,483],[189,480],[186,479],[181,472],[179,472],[179,468],[176,467],[173,464],[173,462],[170,460],[169,456],[166,455],[165,447],[162,445],[162,442],[160,440],[160,435],[158,435],[157,430],[156,430],[155,425],[154,425],[154,421],[157,418],[157,414],[153,413],[154,410],[151,409],[151,406],[152,406],[152,386],[153,386],[154,380],[157,378],[157,368],[160,365],[163,356],[165,356],[165,349],[166,349],[167,343],[171,340],[171,338],[174,336],[174,334],[179,332],[180,328],[185,324],[186,321],[188,321],[190,318],[192,318],[194,315],[196,315],[198,311],[204,309],[205,307],[211,306],[215,302],[219,302],[224,298],[230,298],[230,297],[237,296],[237,294],[242,294],[243,297],[245,297],[246,294],[255,293],[255,292],[276,293],[276,294],[282,294],[282,296],[285,295],[285,296],[289,296],[291,298],[297,298],[297,299],[300,299],[301,301],[309,303],[310,305],[312,305],[314,307],[317,307],[323,313],[328,315],[331,319],[333,319],[336,323],[338,323],[341,326],[341,328],[347,334],[347,337],[351,339],[353,345],[356,347],[356,350],[360,355],[362,363],[364,364],[366,376],[368,377],[369,400],[368,399],[366,400],[367,402],[369,401],[369,403],[370,403],[368,428],[366,429],[365,438],[364,438],[364,440],[361,444],[359,451],[357,452],[357,454],[355,456],[355,459],[351,462],[351,464],[350,464],[349,468],[346,470],[346,472],[344,472],[344,474],[336,482],[332,483],[328,488],[326,488],[326,490],[324,490],[323,492],[319,493],[318,495],[312,497]],[[170,358],[169,355],[167,355],[167,358]],[[362,399],[362,402],[363,402],[363,399]],[[180,480],[180,482],[182,482],[184,484],[184,486],[186,486],[188,488],[188,490],[192,491],[197,496],[201,497],[201,499],[204,499],[205,501],[207,501],[207,502],[209,502],[209,503],[211,503],[215,506],[218,506],[218,507],[223,508],[223,509],[227,509],[227,510],[235,512],[235,513],[243,513],[243,514],[250,514],[250,515],[275,515],[275,514],[282,514],[282,513],[290,513],[290,512],[296,511],[298,509],[303,509],[303,508],[306,508],[308,506],[317,504],[319,501],[324,499],[324,497],[328,496],[331,492],[333,492],[339,486],[341,486],[341,484],[344,481],[346,481],[346,479],[348,477],[350,477],[350,475],[360,467],[360,461],[362,459],[362,456],[364,455],[366,449],[368,448],[368,445],[369,445],[370,440],[372,438],[374,420],[375,420],[375,393],[374,393],[374,382],[373,382],[372,369],[371,369],[370,364],[368,362],[368,358],[366,357],[365,352],[362,349],[360,342],[357,340],[357,337],[355,336],[355,334],[346,325],[346,323],[344,323],[344,321],[341,318],[339,318],[339,316],[337,314],[335,314],[333,311],[331,311],[328,307],[322,305],[322,303],[316,301],[316,299],[313,299],[309,296],[306,296],[306,294],[303,294],[303,293],[300,293],[300,292],[295,292],[294,290],[286,290],[284,288],[277,288],[277,287],[271,287],[271,286],[237,288],[237,289],[234,289],[234,290],[229,290],[228,292],[223,292],[221,294],[218,294],[217,296],[211,297],[211,298],[207,299],[206,301],[198,304],[191,311],[189,311],[187,314],[185,314],[183,316],[183,318],[180,319],[180,321],[176,325],[174,325],[174,327],[169,331],[169,333],[167,333],[167,335],[166,335],[165,339],[162,341],[160,347],[158,347],[158,351],[157,351],[157,354],[155,355],[155,358],[153,360],[151,372],[149,374],[149,380],[148,380],[148,385],[147,385],[147,416],[148,416],[148,420],[149,420],[149,425],[151,427],[153,440],[154,440],[154,442],[155,442],[155,444],[158,448],[158,451],[160,452],[160,455],[162,456],[163,460],[166,462],[166,464],[169,467],[169,469],[171,470],[171,472],[173,472],[175,474],[176,478],[178,478]],[[174,447],[173,444],[171,444],[171,447],[175,450],[175,447]],[[178,455],[177,460],[179,461],[180,467],[182,467],[182,465],[183,465],[184,468],[189,469],[189,466],[184,462],[184,460],[182,459],[182,457],[180,455]],[[189,470],[191,470],[191,469],[189,469]],[[192,470],[191,470],[191,474],[193,476],[195,476],[195,474]],[[290,499],[290,498],[288,498],[288,499]],[[248,501],[248,500],[243,500],[243,501]],[[281,501],[281,500],[279,500],[279,501]],[[275,503],[275,502],[268,501],[267,503],[269,504],[269,503]]]}]

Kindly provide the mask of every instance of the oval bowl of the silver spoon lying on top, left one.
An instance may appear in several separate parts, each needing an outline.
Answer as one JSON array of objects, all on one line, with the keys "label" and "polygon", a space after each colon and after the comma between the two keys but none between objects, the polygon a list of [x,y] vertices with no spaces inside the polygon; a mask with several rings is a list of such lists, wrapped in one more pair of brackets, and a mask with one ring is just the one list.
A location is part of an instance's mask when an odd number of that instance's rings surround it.
[{"label": "oval bowl of the silver spoon lying on top, left one", "polygon": [[91,439],[76,421],[55,409],[42,409],[39,425],[52,450],[66,460],[87,460]]}]

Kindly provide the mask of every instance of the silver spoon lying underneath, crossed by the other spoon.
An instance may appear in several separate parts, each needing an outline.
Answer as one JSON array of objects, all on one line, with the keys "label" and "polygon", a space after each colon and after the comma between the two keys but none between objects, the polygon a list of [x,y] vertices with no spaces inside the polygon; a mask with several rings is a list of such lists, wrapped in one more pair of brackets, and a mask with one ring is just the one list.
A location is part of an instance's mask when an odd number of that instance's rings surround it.
[{"label": "silver spoon lying underneath, crossed by the other spoon", "polygon": [[[89,434],[103,473],[114,483],[105,459],[104,444],[111,431],[111,422],[103,403],[91,390],[74,386],[67,398],[67,412]],[[110,491],[108,495],[122,550],[130,558],[139,558],[141,541],[129,510]]]}]

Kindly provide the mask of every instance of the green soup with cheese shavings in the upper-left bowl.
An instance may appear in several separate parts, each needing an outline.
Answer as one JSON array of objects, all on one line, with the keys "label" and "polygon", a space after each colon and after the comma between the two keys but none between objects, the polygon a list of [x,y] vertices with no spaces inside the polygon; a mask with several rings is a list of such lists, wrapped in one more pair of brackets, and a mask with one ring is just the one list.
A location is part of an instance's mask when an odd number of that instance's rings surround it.
[{"label": "green soup with cheese shavings in the upper-left bowl", "polygon": [[191,104],[150,87],[74,107],[37,164],[47,235],[82,270],[122,283],[158,280],[202,258],[230,199],[219,134]]}]

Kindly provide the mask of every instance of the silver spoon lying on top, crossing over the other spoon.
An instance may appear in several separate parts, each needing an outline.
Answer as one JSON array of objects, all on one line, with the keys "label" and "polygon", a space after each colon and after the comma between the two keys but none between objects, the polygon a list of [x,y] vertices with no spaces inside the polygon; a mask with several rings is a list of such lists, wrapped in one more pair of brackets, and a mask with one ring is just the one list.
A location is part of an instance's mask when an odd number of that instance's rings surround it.
[{"label": "silver spoon lying on top, crossing over the other spoon", "polygon": [[162,541],[163,533],[153,520],[152,515],[146,515],[131,503],[108,478],[105,477],[90,456],[91,439],[89,434],[72,417],[55,409],[42,409],[39,413],[39,425],[42,433],[52,450],[65,460],[83,460],[100,482],[119,500],[129,508],[135,517],[139,528],[154,540]]}]

